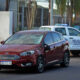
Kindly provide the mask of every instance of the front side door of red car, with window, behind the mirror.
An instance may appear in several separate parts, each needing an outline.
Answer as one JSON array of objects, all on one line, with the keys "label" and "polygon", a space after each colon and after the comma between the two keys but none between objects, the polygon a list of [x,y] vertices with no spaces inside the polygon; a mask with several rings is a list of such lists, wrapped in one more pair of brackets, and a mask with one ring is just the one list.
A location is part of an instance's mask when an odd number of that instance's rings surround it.
[{"label": "front side door of red car, with window, behind the mirror", "polygon": [[46,56],[46,61],[48,63],[52,62],[54,60],[54,45],[53,45],[53,39],[52,39],[52,34],[51,32],[47,33],[47,35],[44,38],[44,45],[47,45],[50,47],[50,50],[45,50],[45,56]]}]

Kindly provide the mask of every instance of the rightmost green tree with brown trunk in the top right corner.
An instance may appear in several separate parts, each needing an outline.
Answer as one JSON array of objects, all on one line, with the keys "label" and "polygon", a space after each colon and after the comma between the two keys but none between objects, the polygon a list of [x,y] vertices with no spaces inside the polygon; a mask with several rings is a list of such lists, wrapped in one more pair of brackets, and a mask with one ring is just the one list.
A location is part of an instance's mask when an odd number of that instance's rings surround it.
[{"label": "rightmost green tree with brown trunk in the top right corner", "polygon": [[74,24],[73,14],[75,14],[75,19],[80,14],[80,0],[70,0],[69,3],[70,3],[70,7],[69,7],[70,25],[72,26],[72,24]]}]

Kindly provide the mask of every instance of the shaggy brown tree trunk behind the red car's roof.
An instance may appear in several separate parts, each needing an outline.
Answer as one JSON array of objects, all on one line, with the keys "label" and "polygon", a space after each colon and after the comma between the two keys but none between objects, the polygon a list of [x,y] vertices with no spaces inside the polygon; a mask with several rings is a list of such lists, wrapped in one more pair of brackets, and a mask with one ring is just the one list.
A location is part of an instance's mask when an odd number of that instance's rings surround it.
[{"label": "shaggy brown tree trunk behind the red car's roof", "polygon": [[35,0],[29,0],[28,10],[27,10],[27,26],[28,30],[30,30],[34,26],[35,16],[37,10],[37,3]]}]

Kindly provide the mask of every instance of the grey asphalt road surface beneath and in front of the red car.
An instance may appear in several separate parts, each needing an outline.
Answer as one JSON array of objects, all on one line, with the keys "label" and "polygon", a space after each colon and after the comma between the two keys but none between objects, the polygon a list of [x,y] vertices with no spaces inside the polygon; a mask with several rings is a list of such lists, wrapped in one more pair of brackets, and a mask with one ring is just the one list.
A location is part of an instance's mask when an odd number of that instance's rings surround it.
[{"label": "grey asphalt road surface beneath and in front of the red car", "polygon": [[68,68],[49,66],[41,74],[34,71],[2,70],[0,80],[80,80],[80,57],[71,57]]}]

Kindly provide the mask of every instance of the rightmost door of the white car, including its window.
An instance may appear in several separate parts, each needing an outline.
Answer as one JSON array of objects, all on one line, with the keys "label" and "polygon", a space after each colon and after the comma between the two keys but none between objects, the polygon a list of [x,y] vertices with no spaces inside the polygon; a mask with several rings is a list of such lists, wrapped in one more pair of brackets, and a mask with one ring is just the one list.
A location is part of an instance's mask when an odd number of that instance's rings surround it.
[{"label": "rightmost door of the white car, including its window", "polygon": [[74,28],[68,28],[68,41],[70,50],[80,50],[80,32]]}]

